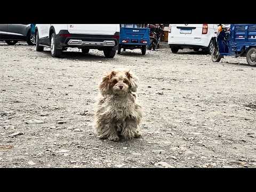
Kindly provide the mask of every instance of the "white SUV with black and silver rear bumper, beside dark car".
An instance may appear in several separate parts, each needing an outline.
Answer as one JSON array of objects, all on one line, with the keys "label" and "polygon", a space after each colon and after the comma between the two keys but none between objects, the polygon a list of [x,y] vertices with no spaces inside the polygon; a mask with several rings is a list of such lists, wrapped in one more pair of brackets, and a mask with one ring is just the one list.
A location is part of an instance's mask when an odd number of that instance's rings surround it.
[{"label": "white SUV with black and silver rear bumper, beside dark car", "polygon": [[118,49],[119,24],[36,24],[36,51],[51,48],[52,57],[61,57],[67,47],[78,47],[83,53],[90,49],[113,58]]}]

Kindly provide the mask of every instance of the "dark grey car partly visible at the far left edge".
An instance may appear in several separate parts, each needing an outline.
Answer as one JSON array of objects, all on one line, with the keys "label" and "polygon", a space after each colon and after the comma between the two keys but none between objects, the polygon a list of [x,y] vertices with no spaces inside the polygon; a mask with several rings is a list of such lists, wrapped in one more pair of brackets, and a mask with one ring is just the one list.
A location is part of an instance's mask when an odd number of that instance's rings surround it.
[{"label": "dark grey car partly visible at the far left edge", "polygon": [[35,45],[35,36],[31,35],[30,24],[0,24],[0,41],[8,45],[15,45],[18,41]]}]

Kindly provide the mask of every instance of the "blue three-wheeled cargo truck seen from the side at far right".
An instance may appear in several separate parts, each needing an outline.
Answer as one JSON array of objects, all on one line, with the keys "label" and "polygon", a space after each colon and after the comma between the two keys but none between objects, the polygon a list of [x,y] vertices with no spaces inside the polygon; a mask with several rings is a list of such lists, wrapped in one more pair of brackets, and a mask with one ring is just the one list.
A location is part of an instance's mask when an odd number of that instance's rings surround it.
[{"label": "blue three-wheeled cargo truck seen from the side at far right", "polygon": [[212,61],[219,62],[224,55],[246,57],[250,66],[256,66],[256,24],[218,26],[214,39]]}]

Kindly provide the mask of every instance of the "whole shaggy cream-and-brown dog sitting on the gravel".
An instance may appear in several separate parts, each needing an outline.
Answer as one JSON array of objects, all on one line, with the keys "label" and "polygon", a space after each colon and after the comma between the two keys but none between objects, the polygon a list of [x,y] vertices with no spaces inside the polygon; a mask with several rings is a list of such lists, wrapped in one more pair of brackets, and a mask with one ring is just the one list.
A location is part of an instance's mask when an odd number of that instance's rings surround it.
[{"label": "whole shaggy cream-and-brown dog sitting on the gravel", "polygon": [[138,79],[128,70],[114,70],[100,83],[95,106],[95,127],[98,137],[118,141],[139,138],[141,107],[135,102]]}]

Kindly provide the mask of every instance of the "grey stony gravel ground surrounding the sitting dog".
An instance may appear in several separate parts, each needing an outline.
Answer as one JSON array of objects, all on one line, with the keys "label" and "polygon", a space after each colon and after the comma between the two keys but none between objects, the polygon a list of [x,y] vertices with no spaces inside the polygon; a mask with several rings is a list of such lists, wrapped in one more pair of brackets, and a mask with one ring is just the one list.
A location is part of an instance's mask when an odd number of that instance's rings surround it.
[{"label": "grey stony gravel ground surrounding the sitting dog", "polygon": [[[55,59],[25,43],[0,53],[0,167],[256,167],[256,68],[244,58],[70,49]],[[98,84],[114,68],[140,79],[140,139],[94,134]]]}]

